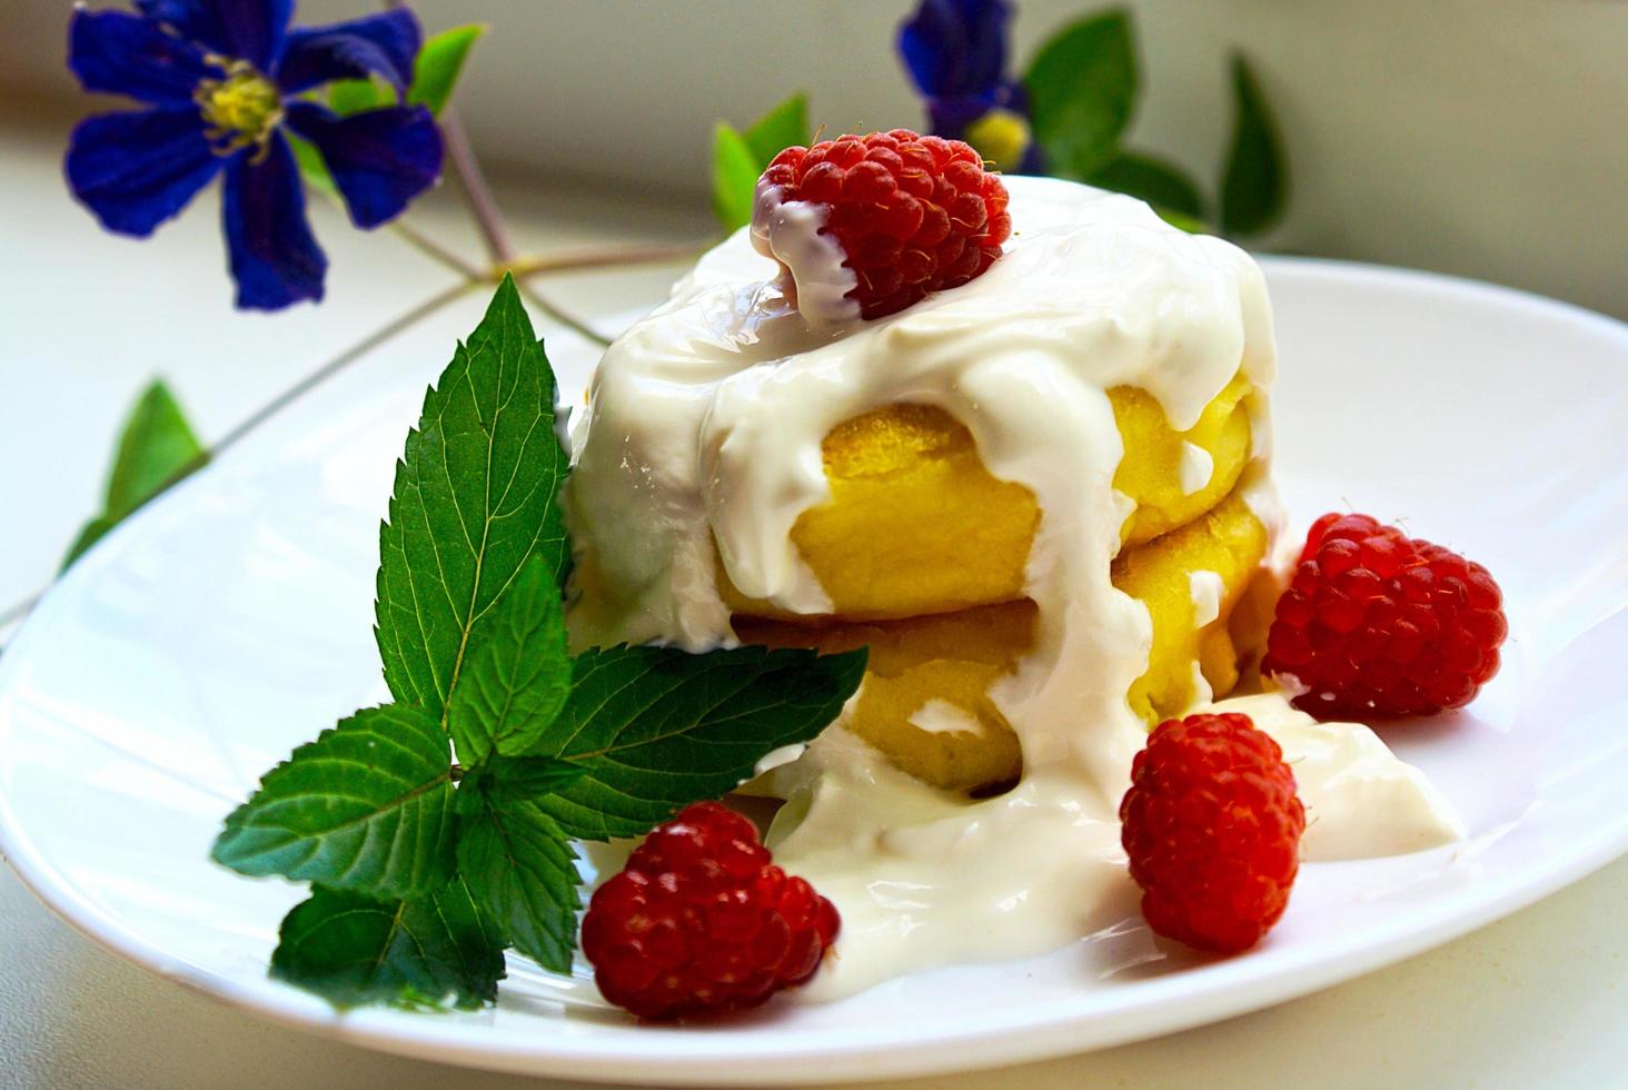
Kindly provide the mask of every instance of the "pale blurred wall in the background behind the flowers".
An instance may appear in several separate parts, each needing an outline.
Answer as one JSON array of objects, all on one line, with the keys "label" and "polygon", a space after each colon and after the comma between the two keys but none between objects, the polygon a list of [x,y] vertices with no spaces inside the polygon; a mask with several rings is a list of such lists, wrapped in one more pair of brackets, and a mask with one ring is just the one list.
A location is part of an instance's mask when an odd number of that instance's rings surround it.
[{"label": "pale blurred wall in the background behind the flowers", "polygon": [[[908,0],[420,0],[487,21],[464,86],[510,168],[702,200],[715,116],[796,88],[830,129],[917,124],[892,54]],[[1016,55],[1086,0],[1019,0]],[[1258,65],[1296,192],[1270,248],[1418,266],[1628,316],[1628,2],[1131,0],[1148,91],[1136,143],[1213,191],[1226,54]],[[361,0],[304,0],[304,21]],[[0,2],[0,90],[81,109],[65,0]],[[0,156],[5,152],[0,127]],[[3,184],[3,182],[0,182]],[[3,210],[0,210],[3,215]]]}]

